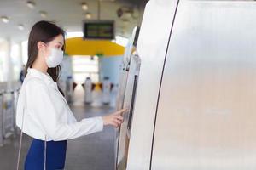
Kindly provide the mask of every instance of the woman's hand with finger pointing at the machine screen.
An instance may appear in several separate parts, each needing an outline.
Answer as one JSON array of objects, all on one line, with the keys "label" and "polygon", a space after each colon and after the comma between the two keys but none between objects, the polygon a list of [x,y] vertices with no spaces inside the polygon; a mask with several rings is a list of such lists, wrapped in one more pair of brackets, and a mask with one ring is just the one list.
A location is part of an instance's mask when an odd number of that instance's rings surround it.
[{"label": "woman's hand with finger pointing at the machine screen", "polygon": [[119,111],[115,111],[114,113],[108,116],[102,116],[104,125],[112,125],[113,127],[119,127],[122,124],[122,122],[124,122],[124,118],[121,115],[125,111],[128,111],[128,109],[122,109]]}]

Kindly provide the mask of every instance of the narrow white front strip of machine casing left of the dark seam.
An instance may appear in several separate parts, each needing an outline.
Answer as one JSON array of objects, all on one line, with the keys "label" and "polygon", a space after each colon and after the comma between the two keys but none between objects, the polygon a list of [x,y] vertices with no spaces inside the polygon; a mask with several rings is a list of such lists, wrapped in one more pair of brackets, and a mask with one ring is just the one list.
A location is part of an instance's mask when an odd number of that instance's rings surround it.
[{"label": "narrow white front strip of machine casing left of the dark seam", "polygon": [[128,170],[148,170],[160,77],[177,0],[149,1],[137,42],[141,59],[132,119]]}]

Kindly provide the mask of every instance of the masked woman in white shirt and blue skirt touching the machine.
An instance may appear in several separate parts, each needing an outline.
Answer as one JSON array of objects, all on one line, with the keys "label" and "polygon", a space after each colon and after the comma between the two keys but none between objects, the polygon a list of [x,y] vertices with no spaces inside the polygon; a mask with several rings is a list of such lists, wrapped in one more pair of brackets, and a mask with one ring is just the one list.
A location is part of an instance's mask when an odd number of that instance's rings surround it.
[{"label": "masked woman in white shirt and blue skirt touching the machine", "polygon": [[25,170],[64,169],[67,139],[100,132],[105,125],[119,127],[123,122],[125,110],[76,121],[57,84],[64,48],[65,32],[60,27],[48,21],[32,26],[16,113],[17,126],[33,138]]}]

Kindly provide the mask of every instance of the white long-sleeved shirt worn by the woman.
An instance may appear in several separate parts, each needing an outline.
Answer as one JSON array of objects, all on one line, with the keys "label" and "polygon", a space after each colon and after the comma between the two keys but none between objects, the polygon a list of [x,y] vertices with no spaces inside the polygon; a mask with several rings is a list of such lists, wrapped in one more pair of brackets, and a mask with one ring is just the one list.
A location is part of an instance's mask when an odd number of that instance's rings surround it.
[{"label": "white long-sleeved shirt worn by the woman", "polygon": [[23,108],[23,133],[34,139],[44,140],[45,135],[46,141],[75,139],[103,130],[100,116],[77,122],[56,82],[48,73],[33,68],[28,68],[18,98],[16,125],[20,129]]}]

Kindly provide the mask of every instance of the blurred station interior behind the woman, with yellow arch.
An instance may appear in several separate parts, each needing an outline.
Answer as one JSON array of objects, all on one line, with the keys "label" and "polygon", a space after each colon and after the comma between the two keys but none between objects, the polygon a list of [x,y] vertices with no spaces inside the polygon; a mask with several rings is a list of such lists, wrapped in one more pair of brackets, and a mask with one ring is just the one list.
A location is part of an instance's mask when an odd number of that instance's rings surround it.
[{"label": "blurred station interior behind the woman, with yellow arch", "polygon": [[[140,26],[146,3],[147,0],[0,0],[0,90],[2,96],[7,96],[2,98],[0,111],[15,107],[15,100],[8,97],[8,93],[21,85],[20,71],[27,61],[28,34],[38,20],[53,21],[67,31],[60,85],[65,90],[68,78],[74,82],[73,93],[67,100],[78,120],[114,111],[125,46],[134,27]],[[84,22],[91,20],[113,20],[114,38],[84,39]],[[84,104],[82,85],[86,77],[96,86],[90,105]],[[108,105],[102,104],[104,77],[109,77],[113,85]],[[0,121],[3,122],[3,118],[0,117]],[[66,169],[113,169],[113,133],[114,129],[107,127],[102,133],[69,141]],[[31,138],[25,136],[24,141],[22,161]],[[19,133],[3,137],[0,170],[15,169],[18,144]]]}]

